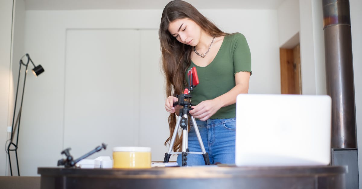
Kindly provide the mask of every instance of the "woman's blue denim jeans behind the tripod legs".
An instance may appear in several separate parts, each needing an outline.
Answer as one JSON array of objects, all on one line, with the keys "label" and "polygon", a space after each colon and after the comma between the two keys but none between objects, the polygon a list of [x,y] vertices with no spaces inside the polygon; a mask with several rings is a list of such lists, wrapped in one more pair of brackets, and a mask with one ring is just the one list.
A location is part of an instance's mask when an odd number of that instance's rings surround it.
[{"label": "woman's blue denim jeans behind the tripod legs", "polygon": [[[235,128],[236,119],[207,119],[196,120],[203,145],[209,154],[210,164],[235,164]],[[191,123],[189,132],[189,151],[201,152],[200,144],[194,127]],[[181,165],[181,154],[177,156],[177,163]],[[188,154],[187,165],[205,165],[201,154]]]}]

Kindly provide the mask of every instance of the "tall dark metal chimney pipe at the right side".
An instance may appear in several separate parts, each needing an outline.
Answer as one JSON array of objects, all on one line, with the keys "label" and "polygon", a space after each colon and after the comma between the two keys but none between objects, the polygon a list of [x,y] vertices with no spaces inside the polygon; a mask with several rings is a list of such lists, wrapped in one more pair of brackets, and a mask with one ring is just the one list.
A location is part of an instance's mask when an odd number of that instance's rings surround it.
[{"label": "tall dark metal chimney pipe at the right side", "polygon": [[323,0],[323,25],[331,147],[357,148],[349,0]]}]

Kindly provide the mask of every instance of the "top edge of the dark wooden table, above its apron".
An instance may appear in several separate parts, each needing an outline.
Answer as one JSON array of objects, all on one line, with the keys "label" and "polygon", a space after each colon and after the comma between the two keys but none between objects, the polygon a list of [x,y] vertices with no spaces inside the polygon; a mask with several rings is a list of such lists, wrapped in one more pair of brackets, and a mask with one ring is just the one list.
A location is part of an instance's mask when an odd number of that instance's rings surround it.
[{"label": "top edge of the dark wooden table, above its apron", "polygon": [[117,177],[139,179],[171,179],[171,178],[194,178],[197,172],[198,178],[218,177],[288,177],[307,175],[340,175],[348,173],[347,166],[300,166],[300,167],[157,167],[150,169],[81,169],[81,168],[47,168],[39,167],[38,174],[41,176],[87,176],[87,177]]}]

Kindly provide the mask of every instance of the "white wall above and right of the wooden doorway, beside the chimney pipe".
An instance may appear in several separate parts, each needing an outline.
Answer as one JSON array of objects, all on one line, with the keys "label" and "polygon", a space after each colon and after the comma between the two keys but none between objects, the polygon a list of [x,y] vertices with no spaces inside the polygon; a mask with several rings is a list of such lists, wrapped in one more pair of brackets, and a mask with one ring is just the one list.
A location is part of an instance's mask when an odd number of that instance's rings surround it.
[{"label": "white wall above and right of the wooden doorway, beside the chimney pipe", "polygon": [[321,1],[285,0],[278,9],[279,47],[300,43],[302,94],[325,95],[323,9]]}]

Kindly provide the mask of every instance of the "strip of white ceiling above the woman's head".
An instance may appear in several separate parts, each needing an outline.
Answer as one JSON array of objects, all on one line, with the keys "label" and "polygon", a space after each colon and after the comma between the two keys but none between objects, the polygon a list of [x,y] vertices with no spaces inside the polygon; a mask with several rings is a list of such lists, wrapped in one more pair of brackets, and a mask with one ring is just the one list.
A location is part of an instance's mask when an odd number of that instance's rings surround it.
[{"label": "strip of white ceiling above the woman's head", "polygon": [[[170,0],[24,0],[26,10],[163,9]],[[197,9],[277,9],[284,0],[186,0]]]}]

